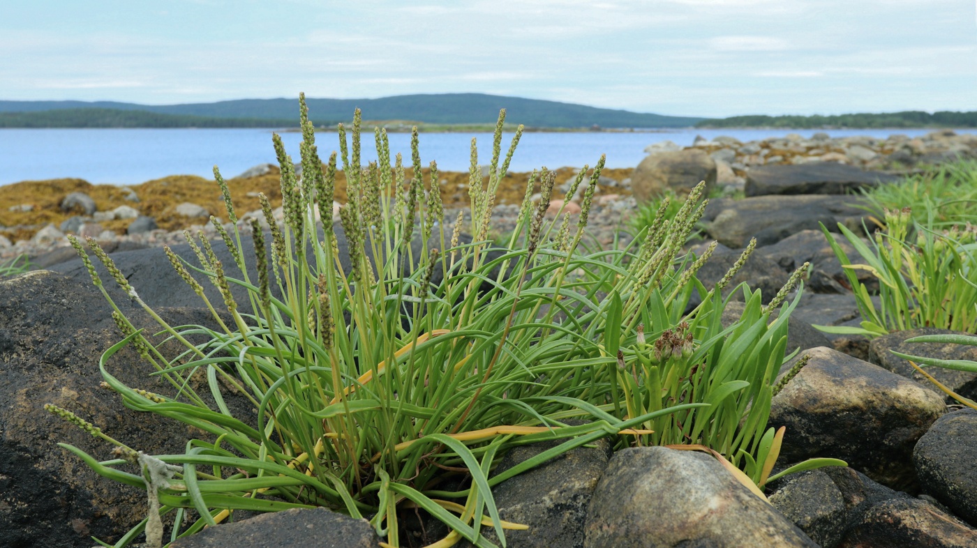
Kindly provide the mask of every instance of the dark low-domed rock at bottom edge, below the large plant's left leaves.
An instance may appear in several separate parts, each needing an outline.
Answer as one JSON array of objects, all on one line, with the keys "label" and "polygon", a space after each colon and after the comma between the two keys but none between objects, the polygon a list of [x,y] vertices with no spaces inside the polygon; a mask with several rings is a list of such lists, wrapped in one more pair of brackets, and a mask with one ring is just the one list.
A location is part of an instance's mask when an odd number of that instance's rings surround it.
[{"label": "dark low-domed rock at bottom edge, below the large plant's left leaves", "polygon": [[366,520],[324,508],[284,510],[234,524],[207,527],[171,548],[375,548],[380,538]]}]

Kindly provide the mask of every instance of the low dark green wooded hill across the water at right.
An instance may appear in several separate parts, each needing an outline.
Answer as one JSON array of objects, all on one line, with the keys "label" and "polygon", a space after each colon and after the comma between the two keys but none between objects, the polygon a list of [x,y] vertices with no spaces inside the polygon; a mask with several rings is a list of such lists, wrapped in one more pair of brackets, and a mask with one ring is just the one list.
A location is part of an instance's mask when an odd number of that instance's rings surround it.
[{"label": "low dark green wooded hill across the water at right", "polygon": [[701,120],[701,128],[972,128],[977,127],[977,111],[887,112],[882,114],[858,113],[832,116],[732,116],[729,118]]}]

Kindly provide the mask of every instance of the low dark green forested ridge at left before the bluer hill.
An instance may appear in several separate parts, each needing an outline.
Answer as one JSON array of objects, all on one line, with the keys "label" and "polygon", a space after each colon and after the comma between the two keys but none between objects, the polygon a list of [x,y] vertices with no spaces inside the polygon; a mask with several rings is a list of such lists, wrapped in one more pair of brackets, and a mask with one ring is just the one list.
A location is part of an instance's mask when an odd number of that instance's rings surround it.
[{"label": "low dark green forested ridge at left before the bluer hill", "polygon": [[291,120],[215,118],[116,108],[0,112],[0,128],[266,128],[294,125],[295,122]]}]

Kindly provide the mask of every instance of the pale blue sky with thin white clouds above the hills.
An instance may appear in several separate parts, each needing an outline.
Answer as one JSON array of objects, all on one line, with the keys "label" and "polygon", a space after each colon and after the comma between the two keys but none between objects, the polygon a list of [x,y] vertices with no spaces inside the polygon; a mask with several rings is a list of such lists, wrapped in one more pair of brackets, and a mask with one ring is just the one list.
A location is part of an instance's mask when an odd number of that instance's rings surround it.
[{"label": "pale blue sky with thin white clouds above the hills", "polygon": [[975,110],[975,0],[0,2],[0,99],[300,91],[703,116]]}]

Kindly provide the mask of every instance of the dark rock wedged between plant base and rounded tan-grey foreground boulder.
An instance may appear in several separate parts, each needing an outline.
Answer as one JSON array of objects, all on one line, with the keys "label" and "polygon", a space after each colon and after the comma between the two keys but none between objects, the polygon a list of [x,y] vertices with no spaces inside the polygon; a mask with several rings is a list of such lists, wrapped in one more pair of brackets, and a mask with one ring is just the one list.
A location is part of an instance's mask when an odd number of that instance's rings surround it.
[{"label": "dark rock wedged between plant base and rounded tan-grey foreground boulder", "polygon": [[[561,441],[562,442],[562,441]],[[502,458],[494,475],[530,459],[559,442],[532,443],[516,447]],[[593,447],[577,447],[546,463],[510,478],[492,489],[499,516],[527,530],[507,530],[508,546],[582,548],[583,524],[591,495],[611,457],[607,440]],[[490,542],[498,544],[491,527],[482,527]],[[470,547],[462,541],[459,547]]]}]

